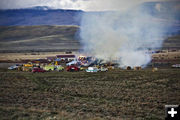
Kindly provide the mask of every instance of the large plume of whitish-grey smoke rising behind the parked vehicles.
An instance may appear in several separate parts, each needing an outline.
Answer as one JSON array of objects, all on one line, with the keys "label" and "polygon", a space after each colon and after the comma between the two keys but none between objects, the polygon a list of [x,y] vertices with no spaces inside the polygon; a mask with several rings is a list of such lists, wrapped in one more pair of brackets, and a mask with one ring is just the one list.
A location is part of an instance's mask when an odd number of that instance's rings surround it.
[{"label": "large plume of whitish-grey smoke rising behind the parked vehicles", "polygon": [[162,46],[163,25],[146,11],[130,6],[128,11],[83,15],[80,36],[85,53],[118,60],[121,67],[145,67],[151,61],[148,50]]}]

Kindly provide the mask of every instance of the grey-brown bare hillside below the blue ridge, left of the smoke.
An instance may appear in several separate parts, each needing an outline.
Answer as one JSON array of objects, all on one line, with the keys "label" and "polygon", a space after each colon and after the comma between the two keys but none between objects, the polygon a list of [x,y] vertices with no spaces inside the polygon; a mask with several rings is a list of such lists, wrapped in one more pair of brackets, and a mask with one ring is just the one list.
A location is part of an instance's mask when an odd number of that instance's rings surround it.
[{"label": "grey-brown bare hillside below the blue ridge, left of the smoke", "polygon": [[77,50],[78,26],[0,27],[0,52]]}]

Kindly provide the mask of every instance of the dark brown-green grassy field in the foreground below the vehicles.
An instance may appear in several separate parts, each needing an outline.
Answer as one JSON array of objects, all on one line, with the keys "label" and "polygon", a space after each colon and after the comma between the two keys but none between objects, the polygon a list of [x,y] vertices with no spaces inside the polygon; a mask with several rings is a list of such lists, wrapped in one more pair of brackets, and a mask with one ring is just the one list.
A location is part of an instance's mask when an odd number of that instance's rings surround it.
[{"label": "dark brown-green grassy field in the foreground below the vehicles", "polygon": [[0,70],[0,118],[44,120],[164,119],[180,104],[180,70],[101,73]]}]

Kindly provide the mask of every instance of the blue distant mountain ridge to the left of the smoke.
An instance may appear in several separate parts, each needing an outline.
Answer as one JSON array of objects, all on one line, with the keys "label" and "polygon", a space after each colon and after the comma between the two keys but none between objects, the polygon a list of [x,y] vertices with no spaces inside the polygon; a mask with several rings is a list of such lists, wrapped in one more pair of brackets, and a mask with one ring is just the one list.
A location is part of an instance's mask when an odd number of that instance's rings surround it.
[{"label": "blue distant mountain ridge to the left of the smoke", "polygon": [[47,6],[0,10],[0,26],[80,25],[82,13]]}]

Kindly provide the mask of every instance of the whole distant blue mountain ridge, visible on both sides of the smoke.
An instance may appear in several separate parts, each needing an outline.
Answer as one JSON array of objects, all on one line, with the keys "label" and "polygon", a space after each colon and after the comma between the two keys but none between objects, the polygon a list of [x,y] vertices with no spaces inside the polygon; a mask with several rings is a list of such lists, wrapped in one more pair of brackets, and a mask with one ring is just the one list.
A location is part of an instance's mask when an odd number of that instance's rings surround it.
[{"label": "whole distant blue mountain ridge, visible on both sides of the smoke", "polygon": [[[163,6],[158,10],[157,5]],[[145,2],[137,8],[145,14],[152,15],[159,20],[168,20],[169,15],[180,24],[180,14],[177,2]],[[176,9],[175,9],[176,8]],[[108,12],[108,11],[107,11]],[[49,6],[34,6],[21,9],[0,9],[0,26],[31,26],[31,25],[80,25],[82,10],[56,9]],[[103,12],[90,12],[91,14]],[[168,15],[167,15],[168,14]],[[163,21],[162,21],[163,22]],[[176,24],[176,23],[175,23]]]}]

